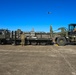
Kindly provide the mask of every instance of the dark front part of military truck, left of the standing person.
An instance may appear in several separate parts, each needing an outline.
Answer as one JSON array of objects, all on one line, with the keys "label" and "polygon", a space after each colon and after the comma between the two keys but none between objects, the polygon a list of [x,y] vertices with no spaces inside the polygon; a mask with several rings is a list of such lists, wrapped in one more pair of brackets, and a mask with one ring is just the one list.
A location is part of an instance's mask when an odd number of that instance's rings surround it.
[{"label": "dark front part of military truck, left of the standing person", "polygon": [[19,44],[21,31],[10,31],[8,29],[0,29],[0,44]]}]

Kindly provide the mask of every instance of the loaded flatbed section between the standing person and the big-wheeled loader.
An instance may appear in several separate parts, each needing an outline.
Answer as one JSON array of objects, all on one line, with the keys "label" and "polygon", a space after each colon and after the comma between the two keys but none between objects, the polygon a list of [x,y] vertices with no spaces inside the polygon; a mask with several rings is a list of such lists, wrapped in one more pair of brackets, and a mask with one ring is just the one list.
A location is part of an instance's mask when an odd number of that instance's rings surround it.
[{"label": "loaded flatbed section between the standing person and the big-wheeled loader", "polygon": [[50,33],[45,32],[29,32],[25,33],[26,35],[26,44],[32,45],[47,45],[52,44],[52,38]]}]

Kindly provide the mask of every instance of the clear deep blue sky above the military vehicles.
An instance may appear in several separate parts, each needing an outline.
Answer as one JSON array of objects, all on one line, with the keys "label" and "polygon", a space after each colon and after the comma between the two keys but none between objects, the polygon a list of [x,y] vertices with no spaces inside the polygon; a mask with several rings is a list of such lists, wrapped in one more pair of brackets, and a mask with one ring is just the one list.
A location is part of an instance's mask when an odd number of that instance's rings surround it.
[{"label": "clear deep blue sky above the military vehicles", "polygon": [[76,0],[0,0],[0,29],[49,32],[50,25],[70,23],[76,23]]}]

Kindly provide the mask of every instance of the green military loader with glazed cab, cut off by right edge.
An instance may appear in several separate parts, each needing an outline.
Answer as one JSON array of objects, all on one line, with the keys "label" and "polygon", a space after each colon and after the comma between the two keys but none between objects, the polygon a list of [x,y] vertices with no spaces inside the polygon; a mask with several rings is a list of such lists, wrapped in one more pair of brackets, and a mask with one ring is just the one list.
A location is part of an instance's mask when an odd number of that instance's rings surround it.
[{"label": "green military loader with glazed cab, cut off by right edge", "polygon": [[58,28],[61,32],[56,33],[55,43],[59,46],[76,43],[76,24],[69,24],[68,29],[65,27]]}]

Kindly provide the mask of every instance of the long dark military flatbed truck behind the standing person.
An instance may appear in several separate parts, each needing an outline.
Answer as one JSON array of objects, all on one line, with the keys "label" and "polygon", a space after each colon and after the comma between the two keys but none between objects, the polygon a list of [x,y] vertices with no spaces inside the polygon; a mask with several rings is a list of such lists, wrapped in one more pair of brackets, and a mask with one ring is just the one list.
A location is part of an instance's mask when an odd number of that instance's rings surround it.
[{"label": "long dark military flatbed truck behind the standing person", "polygon": [[[8,29],[0,29],[0,44],[21,44],[21,31],[10,31]],[[26,45],[46,45],[52,43],[50,33],[45,32],[24,32]]]}]

